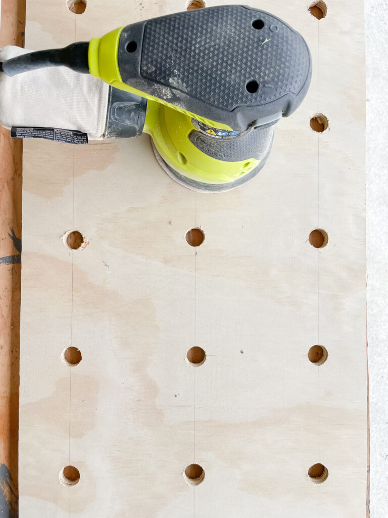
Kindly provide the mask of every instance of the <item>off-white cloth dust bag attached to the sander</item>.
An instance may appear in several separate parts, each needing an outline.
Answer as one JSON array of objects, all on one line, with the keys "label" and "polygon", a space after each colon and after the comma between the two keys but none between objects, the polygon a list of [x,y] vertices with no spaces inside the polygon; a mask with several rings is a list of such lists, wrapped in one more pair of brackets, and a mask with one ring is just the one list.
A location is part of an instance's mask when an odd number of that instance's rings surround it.
[{"label": "off-white cloth dust bag attached to the sander", "polygon": [[[0,61],[31,52],[0,49]],[[107,120],[108,84],[66,67],[42,68],[9,77],[0,72],[0,124],[77,130],[102,139]]]}]

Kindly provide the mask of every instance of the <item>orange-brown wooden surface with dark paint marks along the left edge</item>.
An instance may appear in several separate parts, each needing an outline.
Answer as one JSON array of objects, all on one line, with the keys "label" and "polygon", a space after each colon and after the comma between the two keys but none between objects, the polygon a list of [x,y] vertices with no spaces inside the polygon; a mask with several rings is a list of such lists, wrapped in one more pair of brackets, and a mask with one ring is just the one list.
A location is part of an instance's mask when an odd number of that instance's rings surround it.
[{"label": "orange-brown wooden surface with dark paint marks along the left edge", "polygon": [[[0,47],[24,46],[25,0],[2,0]],[[0,508],[18,516],[22,141],[0,128]]]}]

